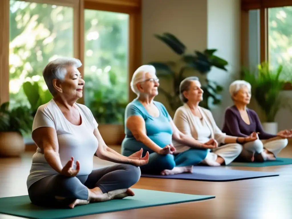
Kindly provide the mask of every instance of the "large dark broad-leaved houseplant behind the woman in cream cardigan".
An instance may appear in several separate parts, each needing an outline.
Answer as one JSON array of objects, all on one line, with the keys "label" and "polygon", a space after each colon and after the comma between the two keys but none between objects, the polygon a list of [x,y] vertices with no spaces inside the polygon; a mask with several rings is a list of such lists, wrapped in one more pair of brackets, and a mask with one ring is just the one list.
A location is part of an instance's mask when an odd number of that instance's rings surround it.
[{"label": "large dark broad-leaved houseplant behind the woman in cream cardigan", "polygon": [[214,105],[220,104],[220,93],[223,91],[223,87],[216,81],[207,79],[207,74],[211,71],[212,67],[227,71],[226,66],[228,62],[214,55],[217,49],[206,49],[203,52],[194,51],[193,54],[187,54],[186,46],[173,34],[163,33],[162,35],[155,34],[154,36],[179,55],[180,61],[182,62],[180,67],[177,67],[179,63],[173,61],[148,63],[156,68],[157,77],[164,77],[172,80],[172,94],[159,87],[159,92],[165,95],[171,109],[176,110],[182,105],[179,99],[179,86],[180,82],[186,78],[186,72],[192,72],[192,75],[194,75],[195,72],[199,72],[199,75],[203,77],[203,80],[200,81],[204,91],[203,101],[200,102],[201,107],[209,109],[209,99],[213,100],[212,103]]}]

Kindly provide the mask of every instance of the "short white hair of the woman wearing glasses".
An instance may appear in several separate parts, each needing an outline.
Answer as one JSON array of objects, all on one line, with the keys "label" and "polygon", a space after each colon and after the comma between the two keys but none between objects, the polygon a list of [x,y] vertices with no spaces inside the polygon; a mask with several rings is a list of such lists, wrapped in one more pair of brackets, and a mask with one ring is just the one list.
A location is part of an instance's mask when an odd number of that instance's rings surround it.
[{"label": "short white hair of the woman wearing glasses", "polygon": [[145,80],[145,74],[149,73],[151,76],[156,76],[156,69],[153,65],[142,65],[134,72],[131,80],[132,91],[139,95],[140,92],[137,88],[137,84]]}]

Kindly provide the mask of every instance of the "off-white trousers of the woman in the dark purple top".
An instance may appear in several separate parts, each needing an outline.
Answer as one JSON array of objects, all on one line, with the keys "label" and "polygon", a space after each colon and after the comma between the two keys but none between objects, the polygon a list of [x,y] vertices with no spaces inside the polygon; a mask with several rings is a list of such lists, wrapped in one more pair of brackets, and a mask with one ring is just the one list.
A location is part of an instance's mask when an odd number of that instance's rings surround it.
[{"label": "off-white trousers of the woman in the dark purple top", "polygon": [[288,145],[288,139],[277,139],[277,140],[255,140],[252,142],[245,143],[244,149],[253,153],[261,153],[264,149],[272,152],[276,157],[279,152]]}]

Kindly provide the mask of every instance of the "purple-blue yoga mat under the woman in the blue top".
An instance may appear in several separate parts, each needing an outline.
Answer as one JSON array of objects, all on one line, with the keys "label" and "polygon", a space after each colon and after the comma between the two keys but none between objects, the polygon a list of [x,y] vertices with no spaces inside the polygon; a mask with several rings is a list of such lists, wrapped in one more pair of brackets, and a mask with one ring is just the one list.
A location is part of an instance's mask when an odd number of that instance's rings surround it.
[{"label": "purple-blue yoga mat under the woman in the blue top", "polygon": [[151,175],[142,174],[141,177],[164,178],[164,179],[181,179],[181,180],[197,180],[212,182],[227,182],[236,180],[247,180],[254,178],[279,176],[277,173],[230,170],[224,166],[194,166],[193,173],[180,173],[174,175]]}]

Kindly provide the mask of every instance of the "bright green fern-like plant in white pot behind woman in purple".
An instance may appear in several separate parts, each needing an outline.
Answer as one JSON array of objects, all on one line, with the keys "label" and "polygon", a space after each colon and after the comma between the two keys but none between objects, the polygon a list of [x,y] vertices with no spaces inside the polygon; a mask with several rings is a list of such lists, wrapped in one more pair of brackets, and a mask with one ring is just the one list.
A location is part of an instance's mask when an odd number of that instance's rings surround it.
[{"label": "bright green fern-like plant in white pot behind woman in purple", "polygon": [[252,98],[258,103],[264,115],[263,129],[271,134],[277,134],[278,124],[275,117],[280,108],[291,105],[287,99],[283,100],[280,92],[283,90],[286,81],[281,80],[283,66],[273,71],[268,62],[263,62],[257,67],[256,72],[251,72],[247,68],[242,71],[242,79],[251,84]]}]

